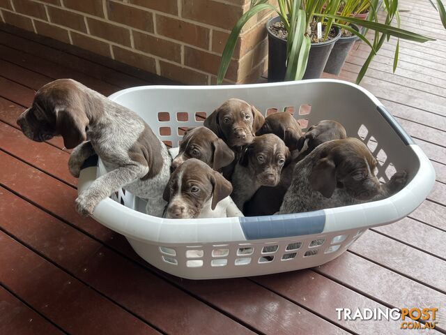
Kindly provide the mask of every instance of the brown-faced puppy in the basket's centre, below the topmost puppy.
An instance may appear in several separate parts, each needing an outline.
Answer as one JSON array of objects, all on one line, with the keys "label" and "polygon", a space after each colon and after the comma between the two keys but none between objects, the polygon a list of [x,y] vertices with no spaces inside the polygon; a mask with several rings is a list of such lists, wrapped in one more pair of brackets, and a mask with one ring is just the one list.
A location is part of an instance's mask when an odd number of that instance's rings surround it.
[{"label": "brown-faced puppy in the basket's centre, below the topmost puppy", "polygon": [[277,186],[282,168],[289,163],[290,151],[274,134],[257,136],[243,152],[232,175],[232,198],[243,211],[245,202],[261,186]]}]

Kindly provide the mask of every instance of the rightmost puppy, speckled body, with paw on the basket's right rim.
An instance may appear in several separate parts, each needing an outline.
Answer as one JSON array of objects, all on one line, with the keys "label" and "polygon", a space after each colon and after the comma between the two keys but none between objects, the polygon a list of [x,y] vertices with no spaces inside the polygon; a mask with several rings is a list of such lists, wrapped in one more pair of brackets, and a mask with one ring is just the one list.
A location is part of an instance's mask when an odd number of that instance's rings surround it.
[{"label": "rightmost puppy, speckled body, with paw on the basket's right rim", "polygon": [[406,185],[406,171],[395,173],[381,185],[375,168],[376,159],[360,140],[349,137],[325,142],[295,165],[279,214],[381,200]]}]

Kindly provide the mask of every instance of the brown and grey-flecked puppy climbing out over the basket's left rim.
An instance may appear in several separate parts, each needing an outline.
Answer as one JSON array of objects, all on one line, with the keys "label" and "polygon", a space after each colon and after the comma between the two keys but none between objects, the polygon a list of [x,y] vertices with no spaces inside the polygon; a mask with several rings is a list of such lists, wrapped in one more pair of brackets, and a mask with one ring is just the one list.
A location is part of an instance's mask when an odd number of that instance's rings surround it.
[{"label": "brown and grey-flecked puppy climbing out over the basket's left rim", "polygon": [[77,197],[79,214],[92,214],[101,200],[123,187],[148,200],[148,214],[162,216],[171,157],[136,113],[75,80],[61,79],[37,92],[17,124],[38,142],[61,135],[65,147],[75,148],[68,161],[75,177],[86,158],[101,158],[108,172]]}]

